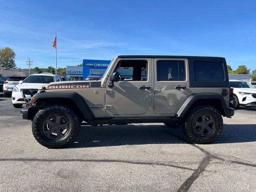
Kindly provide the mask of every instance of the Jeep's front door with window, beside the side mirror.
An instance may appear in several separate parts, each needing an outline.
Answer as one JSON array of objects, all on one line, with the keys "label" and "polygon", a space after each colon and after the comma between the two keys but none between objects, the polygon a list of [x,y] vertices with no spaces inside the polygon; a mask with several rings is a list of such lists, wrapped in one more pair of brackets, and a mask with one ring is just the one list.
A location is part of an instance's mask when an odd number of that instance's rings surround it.
[{"label": "Jeep's front door with window, beside the side mirror", "polygon": [[106,81],[106,112],[144,114],[152,102],[152,58],[119,58],[111,72],[119,72],[120,80],[112,88]]}]

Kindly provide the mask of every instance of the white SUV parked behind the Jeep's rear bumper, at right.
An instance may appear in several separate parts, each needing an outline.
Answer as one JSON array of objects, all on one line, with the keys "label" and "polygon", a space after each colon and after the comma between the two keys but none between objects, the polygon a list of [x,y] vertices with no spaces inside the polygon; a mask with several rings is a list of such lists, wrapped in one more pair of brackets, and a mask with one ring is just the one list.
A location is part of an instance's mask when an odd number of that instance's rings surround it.
[{"label": "white SUV parked behind the Jeep's rear bumper, at right", "polygon": [[229,85],[233,88],[233,97],[236,100],[234,108],[239,106],[256,107],[256,88],[243,80],[230,80]]}]

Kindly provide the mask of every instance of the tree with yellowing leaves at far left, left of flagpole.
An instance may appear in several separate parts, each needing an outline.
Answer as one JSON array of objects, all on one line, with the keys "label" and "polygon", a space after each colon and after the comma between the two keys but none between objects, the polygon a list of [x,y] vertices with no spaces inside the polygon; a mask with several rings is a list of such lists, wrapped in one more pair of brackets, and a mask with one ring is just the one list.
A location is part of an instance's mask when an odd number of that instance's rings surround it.
[{"label": "tree with yellowing leaves at far left, left of flagpole", "polygon": [[15,64],[15,52],[9,47],[0,49],[0,67],[17,68]]}]

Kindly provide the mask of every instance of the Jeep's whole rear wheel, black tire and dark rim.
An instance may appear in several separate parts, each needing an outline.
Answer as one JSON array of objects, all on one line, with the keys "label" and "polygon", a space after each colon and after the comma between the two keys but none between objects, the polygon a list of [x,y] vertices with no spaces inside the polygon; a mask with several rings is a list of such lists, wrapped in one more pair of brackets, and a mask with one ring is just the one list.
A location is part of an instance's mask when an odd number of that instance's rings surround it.
[{"label": "Jeep's whole rear wheel, black tire and dark rim", "polygon": [[211,143],[218,138],[223,128],[220,112],[212,106],[199,106],[190,112],[184,133],[196,144]]}]

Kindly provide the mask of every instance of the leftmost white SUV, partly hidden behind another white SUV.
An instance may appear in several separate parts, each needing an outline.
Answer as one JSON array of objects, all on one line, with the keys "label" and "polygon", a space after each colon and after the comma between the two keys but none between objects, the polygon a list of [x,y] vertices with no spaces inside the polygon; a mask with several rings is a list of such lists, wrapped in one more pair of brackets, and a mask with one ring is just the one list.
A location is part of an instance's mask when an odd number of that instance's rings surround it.
[{"label": "leftmost white SUV, partly hidden behind another white SUV", "polygon": [[11,97],[12,96],[12,90],[14,86],[18,85],[20,82],[26,79],[27,76],[21,76],[21,75],[14,75],[10,76],[5,82],[3,86],[4,91],[4,97]]}]

